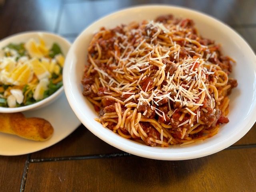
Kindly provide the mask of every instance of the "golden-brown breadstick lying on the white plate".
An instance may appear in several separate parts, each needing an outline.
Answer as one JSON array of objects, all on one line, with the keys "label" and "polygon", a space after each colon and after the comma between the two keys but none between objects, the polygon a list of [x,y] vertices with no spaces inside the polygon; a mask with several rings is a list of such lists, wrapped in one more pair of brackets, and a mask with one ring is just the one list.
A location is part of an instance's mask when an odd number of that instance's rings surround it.
[{"label": "golden-brown breadstick lying on the white plate", "polygon": [[52,136],[53,127],[42,118],[26,118],[22,113],[0,113],[0,132],[45,141]]}]

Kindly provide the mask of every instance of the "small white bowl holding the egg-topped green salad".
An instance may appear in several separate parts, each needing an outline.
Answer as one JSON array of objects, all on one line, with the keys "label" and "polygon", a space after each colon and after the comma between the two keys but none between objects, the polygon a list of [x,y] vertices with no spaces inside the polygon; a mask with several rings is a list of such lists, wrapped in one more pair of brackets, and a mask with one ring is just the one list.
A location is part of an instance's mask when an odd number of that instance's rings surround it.
[{"label": "small white bowl holding the egg-topped green salad", "polygon": [[[21,42],[27,42],[30,38],[38,39],[39,37],[42,37],[46,43],[46,46],[51,46],[54,42],[56,42],[64,56],[68,53],[68,50],[71,46],[70,42],[68,40],[64,39],[61,36],[58,36],[56,34],[52,34],[49,32],[43,32],[43,31],[32,31],[32,32],[22,32],[19,34],[15,34],[12,36],[9,36],[7,38],[4,38],[0,41],[0,49],[2,49],[4,46],[7,46],[10,43],[21,43]],[[38,109],[44,106],[47,106],[48,104],[51,104],[54,102],[55,99],[58,98],[58,96],[61,95],[63,92],[64,87],[62,86],[59,88],[54,94],[50,95],[49,97],[45,98],[44,100],[41,100],[39,102],[36,102],[34,104],[28,105],[28,106],[22,106],[22,107],[16,107],[16,108],[6,108],[6,107],[0,107],[0,113],[15,113],[15,112],[22,112],[26,110],[34,110]]]}]

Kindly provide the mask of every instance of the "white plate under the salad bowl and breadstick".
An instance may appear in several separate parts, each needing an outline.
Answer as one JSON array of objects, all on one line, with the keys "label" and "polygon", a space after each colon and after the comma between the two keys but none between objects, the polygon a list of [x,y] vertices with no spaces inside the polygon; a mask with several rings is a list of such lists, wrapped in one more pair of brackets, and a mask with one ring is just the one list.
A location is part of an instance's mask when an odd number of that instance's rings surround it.
[{"label": "white plate under the salad bowl and breadstick", "polygon": [[15,135],[0,133],[0,155],[23,155],[50,147],[72,133],[81,122],[76,118],[63,93],[54,103],[38,110],[23,113],[26,117],[39,117],[48,120],[54,127],[52,138],[38,142]]}]

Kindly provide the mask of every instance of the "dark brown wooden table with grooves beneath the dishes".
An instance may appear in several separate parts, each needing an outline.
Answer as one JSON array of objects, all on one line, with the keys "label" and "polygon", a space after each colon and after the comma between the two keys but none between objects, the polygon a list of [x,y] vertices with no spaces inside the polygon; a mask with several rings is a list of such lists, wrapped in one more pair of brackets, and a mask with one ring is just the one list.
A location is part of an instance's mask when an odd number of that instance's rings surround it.
[{"label": "dark brown wooden table with grooves beneath the dishes", "polygon": [[[212,15],[256,50],[255,0],[6,0],[0,39],[27,30],[55,32],[73,41],[101,16],[145,3],[186,6]],[[1,126],[1,125],[0,125]],[[256,126],[216,154],[159,161],[122,152],[79,126],[45,150],[0,156],[0,191],[256,191]]]}]

